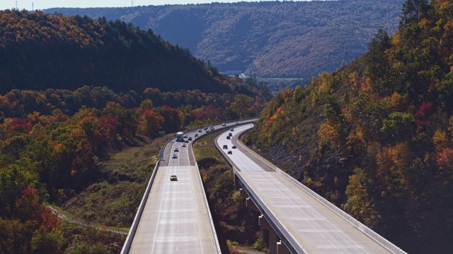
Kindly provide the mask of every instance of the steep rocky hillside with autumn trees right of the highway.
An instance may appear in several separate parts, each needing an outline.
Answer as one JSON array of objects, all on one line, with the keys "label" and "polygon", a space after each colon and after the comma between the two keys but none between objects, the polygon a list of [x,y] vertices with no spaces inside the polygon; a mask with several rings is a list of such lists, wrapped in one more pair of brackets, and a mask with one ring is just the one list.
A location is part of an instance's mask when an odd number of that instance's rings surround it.
[{"label": "steep rocky hillside with autumn trees right of the highway", "polygon": [[453,1],[406,1],[368,47],[282,91],[248,140],[408,253],[451,253]]}]

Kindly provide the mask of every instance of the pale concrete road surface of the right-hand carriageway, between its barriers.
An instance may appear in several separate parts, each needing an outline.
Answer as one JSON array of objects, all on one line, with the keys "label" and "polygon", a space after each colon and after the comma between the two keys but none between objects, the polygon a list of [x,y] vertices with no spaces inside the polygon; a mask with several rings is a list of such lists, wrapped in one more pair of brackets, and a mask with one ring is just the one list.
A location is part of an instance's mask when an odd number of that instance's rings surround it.
[{"label": "pale concrete road surface of the right-hand carriageway, between its barriers", "polygon": [[[217,145],[220,148],[228,145],[232,154],[224,149],[222,152],[306,253],[391,253],[277,173],[275,166],[259,158],[249,159],[252,153],[237,142],[237,134],[248,128],[251,126],[222,133]],[[228,133],[233,133],[232,140],[226,139]],[[231,149],[231,145],[238,148]]]}]

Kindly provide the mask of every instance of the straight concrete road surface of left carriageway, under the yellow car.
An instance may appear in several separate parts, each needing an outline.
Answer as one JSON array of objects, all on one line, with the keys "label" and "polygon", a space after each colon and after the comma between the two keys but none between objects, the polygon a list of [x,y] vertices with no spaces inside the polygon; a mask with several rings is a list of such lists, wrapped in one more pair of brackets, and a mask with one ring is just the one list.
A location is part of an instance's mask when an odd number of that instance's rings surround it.
[{"label": "straight concrete road surface of left carriageway, under the yellow car", "polygon": [[[182,144],[166,147],[130,253],[216,253],[199,172],[190,165],[190,144]],[[171,175],[178,181],[170,181]]]}]

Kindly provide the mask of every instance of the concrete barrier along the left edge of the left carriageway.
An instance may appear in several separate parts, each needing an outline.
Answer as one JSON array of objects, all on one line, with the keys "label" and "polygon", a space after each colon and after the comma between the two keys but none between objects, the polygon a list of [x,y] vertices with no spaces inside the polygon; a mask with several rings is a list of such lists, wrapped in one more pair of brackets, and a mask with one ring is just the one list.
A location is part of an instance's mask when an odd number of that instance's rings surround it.
[{"label": "concrete barrier along the left edge of the left carriageway", "polygon": [[[162,151],[165,149],[166,145],[168,144],[168,141],[170,141],[171,139],[172,138],[169,138],[168,140],[166,140],[166,142],[164,143],[164,146],[162,148]],[[161,155],[161,152],[159,152],[159,155]],[[134,240],[135,232],[137,231],[137,226],[139,225],[140,218],[142,217],[144,205],[146,205],[146,203],[147,203],[149,191],[151,191],[151,186],[153,185],[154,178],[156,177],[157,169],[159,168],[160,162],[161,162],[161,157],[159,156],[159,159],[156,162],[156,167],[154,167],[153,174],[151,174],[151,179],[149,179],[147,189],[144,191],[144,195],[143,195],[142,201],[140,202],[139,209],[137,210],[137,214],[135,214],[134,222],[132,222],[132,226],[130,227],[129,234],[127,234],[125,245],[122,246],[121,254],[129,253],[130,246],[132,244],[132,241]]]}]

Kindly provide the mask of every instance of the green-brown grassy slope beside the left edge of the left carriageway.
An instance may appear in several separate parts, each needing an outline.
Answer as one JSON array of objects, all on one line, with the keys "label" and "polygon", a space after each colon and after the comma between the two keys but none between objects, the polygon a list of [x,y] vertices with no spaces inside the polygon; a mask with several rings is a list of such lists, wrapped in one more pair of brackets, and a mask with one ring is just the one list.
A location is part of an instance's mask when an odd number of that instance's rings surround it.
[{"label": "green-brown grassy slope beside the left edge of the left carriageway", "polygon": [[137,140],[106,162],[102,177],[63,208],[75,219],[129,231],[166,137]]}]

